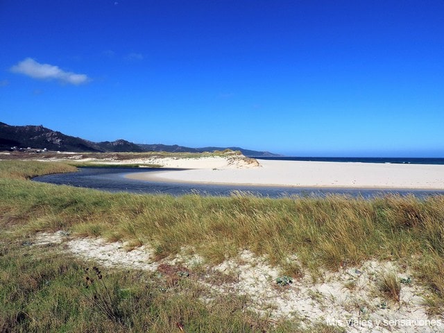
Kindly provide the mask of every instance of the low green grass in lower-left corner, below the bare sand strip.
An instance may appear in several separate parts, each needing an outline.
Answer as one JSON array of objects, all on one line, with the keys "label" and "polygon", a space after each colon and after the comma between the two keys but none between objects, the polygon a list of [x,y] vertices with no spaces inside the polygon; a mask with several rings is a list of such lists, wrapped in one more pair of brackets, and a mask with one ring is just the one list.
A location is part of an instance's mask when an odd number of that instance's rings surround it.
[{"label": "low green grass in lower-left corner, below the bare sand strip", "polygon": [[[2,244],[3,245],[3,244]],[[207,304],[192,280],[110,271],[48,249],[1,248],[1,332],[291,332],[245,311],[244,298]],[[92,282],[91,282],[92,281]],[[268,331],[269,330],[269,331]]]}]

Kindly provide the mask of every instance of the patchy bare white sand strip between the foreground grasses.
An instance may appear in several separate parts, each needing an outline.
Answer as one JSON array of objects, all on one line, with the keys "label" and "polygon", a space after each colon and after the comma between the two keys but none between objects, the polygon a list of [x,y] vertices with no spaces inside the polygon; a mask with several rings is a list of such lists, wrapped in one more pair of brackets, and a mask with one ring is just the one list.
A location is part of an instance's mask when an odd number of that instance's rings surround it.
[{"label": "patchy bare white sand strip between the foreground grasses", "polygon": [[[148,246],[128,251],[121,242],[72,238],[63,232],[40,233],[35,237],[35,245],[50,243],[61,244],[63,250],[107,267],[156,271],[160,264],[182,265],[191,270],[196,265],[205,265],[198,255],[178,255],[156,262]],[[271,266],[266,258],[248,250],[210,267],[208,274],[212,271],[230,278],[219,283],[211,282],[210,278],[196,278],[197,283],[207,287],[208,300],[212,293],[244,295],[251,300],[251,309],[271,318],[294,318],[303,325],[326,323],[344,327],[347,332],[431,332],[444,326],[443,321],[427,316],[423,304],[427,291],[408,268],[395,262],[368,261],[337,272],[325,271],[318,280],[305,273],[284,287],[277,284],[281,268]],[[378,283],[387,271],[409,281],[402,284],[399,302],[385,298],[379,290]]]}]

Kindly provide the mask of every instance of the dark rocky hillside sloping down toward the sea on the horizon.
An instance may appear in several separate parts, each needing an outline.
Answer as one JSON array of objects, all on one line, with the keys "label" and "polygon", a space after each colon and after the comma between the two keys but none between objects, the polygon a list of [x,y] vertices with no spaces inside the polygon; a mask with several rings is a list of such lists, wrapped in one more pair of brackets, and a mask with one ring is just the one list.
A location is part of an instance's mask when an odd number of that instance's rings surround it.
[{"label": "dark rocky hillside sloping down toward the sea on the horizon", "polygon": [[233,151],[241,151],[246,156],[278,156],[267,151],[251,151],[239,147],[204,147],[190,148],[178,145],[165,144],[134,144],[123,139],[113,142],[91,142],[80,137],[71,137],[63,133],[40,126],[10,126],[0,122],[0,150],[17,148],[46,148],[49,151],[74,151],[74,152],[137,152],[167,151],[167,152],[191,152],[223,151],[230,148]]}]

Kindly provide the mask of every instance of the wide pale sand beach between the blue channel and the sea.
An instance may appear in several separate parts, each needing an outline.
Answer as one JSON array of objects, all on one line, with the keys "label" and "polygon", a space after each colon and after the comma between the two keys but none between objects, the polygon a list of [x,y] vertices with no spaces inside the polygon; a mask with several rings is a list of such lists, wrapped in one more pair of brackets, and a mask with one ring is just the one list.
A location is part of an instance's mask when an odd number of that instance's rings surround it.
[{"label": "wide pale sand beach between the blue channel and the sea", "polygon": [[[166,167],[189,168],[131,174],[150,181],[286,187],[444,189],[444,165],[258,160],[233,164],[205,157],[174,160]],[[173,165],[172,165],[173,164]]]}]

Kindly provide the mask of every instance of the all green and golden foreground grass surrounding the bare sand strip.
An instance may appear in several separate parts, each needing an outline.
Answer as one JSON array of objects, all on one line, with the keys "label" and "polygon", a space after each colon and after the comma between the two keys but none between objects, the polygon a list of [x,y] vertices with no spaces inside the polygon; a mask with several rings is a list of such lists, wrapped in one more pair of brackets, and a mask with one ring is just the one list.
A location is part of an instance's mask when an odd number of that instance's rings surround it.
[{"label": "all green and golden foreground grass surrounding the bare sand strip", "polygon": [[[0,161],[0,331],[302,332],[298,323],[271,324],[246,311],[245,298],[206,303],[204,291],[188,280],[171,284],[137,271],[110,271],[99,279],[78,259],[26,246],[35,232],[57,230],[150,244],[159,258],[185,247],[218,263],[248,249],[294,278],[305,271],[322,278],[320,268],[368,259],[393,260],[427,286],[429,311],[444,307],[443,196],[175,198],[27,180],[63,171],[72,169]],[[290,259],[294,255],[297,260]]]}]

